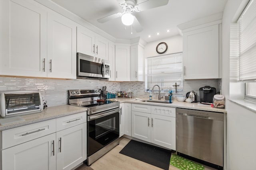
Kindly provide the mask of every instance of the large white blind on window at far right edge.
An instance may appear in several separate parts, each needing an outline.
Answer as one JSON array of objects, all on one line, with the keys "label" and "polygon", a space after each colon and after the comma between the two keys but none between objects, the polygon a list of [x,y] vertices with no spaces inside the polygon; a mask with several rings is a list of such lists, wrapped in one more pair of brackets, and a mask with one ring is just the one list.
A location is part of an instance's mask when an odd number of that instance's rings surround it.
[{"label": "large white blind on window at far right edge", "polygon": [[256,81],[256,0],[250,0],[240,25],[240,81]]}]

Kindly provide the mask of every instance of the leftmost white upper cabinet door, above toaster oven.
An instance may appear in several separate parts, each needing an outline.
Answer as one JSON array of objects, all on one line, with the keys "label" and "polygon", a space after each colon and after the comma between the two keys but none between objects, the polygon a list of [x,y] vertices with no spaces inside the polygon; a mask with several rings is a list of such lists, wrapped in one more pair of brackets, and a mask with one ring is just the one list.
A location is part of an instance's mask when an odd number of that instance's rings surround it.
[{"label": "leftmost white upper cabinet door, above toaster oven", "polygon": [[25,0],[0,6],[0,75],[46,77],[47,12]]}]

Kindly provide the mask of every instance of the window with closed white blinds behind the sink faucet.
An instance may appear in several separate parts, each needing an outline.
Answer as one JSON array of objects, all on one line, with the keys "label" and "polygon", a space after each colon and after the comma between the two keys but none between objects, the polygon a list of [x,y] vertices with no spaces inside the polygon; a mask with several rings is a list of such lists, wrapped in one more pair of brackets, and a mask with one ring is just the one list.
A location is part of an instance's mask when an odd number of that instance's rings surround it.
[{"label": "window with closed white blinds behind the sink faucet", "polygon": [[147,92],[157,84],[161,92],[168,93],[176,83],[178,93],[182,93],[182,53],[148,57],[146,69]]}]

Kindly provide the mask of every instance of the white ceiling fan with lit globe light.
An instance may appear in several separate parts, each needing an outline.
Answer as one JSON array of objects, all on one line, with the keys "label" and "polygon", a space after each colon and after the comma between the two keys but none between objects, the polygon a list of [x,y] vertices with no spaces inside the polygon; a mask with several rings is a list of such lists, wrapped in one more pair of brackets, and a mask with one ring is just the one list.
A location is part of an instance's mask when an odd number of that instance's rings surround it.
[{"label": "white ceiling fan with lit globe light", "polygon": [[[120,0],[119,0],[120,1]],[[105,23],[107,21],[113,20],[118,17],[122,17],[122,23],[124,25],[132,25],[136,32],[141,32],[143,30],[140,22],[137,18],[132,15],[132,12],[141,12],[151,8],[156,8],[159,6],[164,6],[168,4],[169,0],[125,0],[124,3],[119,3],[123,12],[118,12],[103,18],[98,19],[100,23]],[[123,1],[122,1],[123,2]]]}]

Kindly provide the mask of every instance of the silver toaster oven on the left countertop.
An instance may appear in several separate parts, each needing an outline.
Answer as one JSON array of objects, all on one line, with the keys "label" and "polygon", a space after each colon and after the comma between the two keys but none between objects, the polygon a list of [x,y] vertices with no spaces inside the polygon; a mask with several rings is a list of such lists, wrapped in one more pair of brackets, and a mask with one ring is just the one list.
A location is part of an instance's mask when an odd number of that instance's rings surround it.
[{"label": "silver toaster oven on the left countertop", "polygon": [[3,118],[39,113],[42,109],[43,102],[39,92],[0,92],[0,115]]}]

